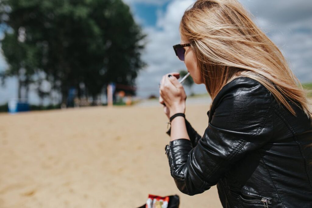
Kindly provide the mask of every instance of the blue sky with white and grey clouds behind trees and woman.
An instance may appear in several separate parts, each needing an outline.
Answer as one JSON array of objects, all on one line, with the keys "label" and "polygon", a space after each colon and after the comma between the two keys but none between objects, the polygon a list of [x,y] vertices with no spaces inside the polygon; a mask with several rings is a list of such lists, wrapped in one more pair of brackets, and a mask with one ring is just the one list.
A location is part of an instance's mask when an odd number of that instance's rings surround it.
[{"label": "blue sky with white and grey clouds behind trees and woman", "polygon": [[[137,78],[137,94],[148,97],[158,93],[161,77],[173,71],[186,70],[178,60],[173,45],[180,43],[179,22],[184,11],[194,0],[124,0],[138,24],[147,34],[147,44],[142,59],[147,67]],[[302,83],[312,82],[312,1],[311,0],[240,0],[251,12],[253,20],[279,47],[290,68]],[[0,56],[0,70],[6,63]],[[207,93],[205,86],[194,85],[195,93]],[[187,91],[188,92],[188,91]],[[7,80],[0,88],[0,104],[17,96],[17,82]],[[35,93],[30,102],[38,103]]]}]

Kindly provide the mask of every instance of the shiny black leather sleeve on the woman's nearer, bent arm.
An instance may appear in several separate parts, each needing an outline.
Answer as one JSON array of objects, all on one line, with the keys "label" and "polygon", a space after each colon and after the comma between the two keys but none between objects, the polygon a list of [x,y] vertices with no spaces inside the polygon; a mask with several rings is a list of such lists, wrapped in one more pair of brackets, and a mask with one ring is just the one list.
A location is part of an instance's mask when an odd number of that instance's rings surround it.
[{"label": "shiny black leather sleeve on the woman's nearer, bent arm", "polygon": [[208,190],[246,153],[267,143],[273,132],[271,103],[271,93],[259,83],[225,85],[213,100],[204,135],[166,145],[178,189],[190,196]]}]

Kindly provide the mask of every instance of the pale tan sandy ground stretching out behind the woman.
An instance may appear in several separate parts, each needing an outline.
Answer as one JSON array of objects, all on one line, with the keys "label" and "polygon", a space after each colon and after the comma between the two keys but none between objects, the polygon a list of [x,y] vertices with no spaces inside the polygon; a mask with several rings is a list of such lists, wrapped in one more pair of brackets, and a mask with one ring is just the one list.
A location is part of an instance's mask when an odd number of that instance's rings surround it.
[{"label": "pale tan sandy ground stretching out behind the woman", "polygon": [[[187,107],[202,134],[207,105]],[[217,188],[181,193],[170,176],[161,107],[0,114],[0,207],[139,207],[178,194],[181,208],[222,207]]]}]

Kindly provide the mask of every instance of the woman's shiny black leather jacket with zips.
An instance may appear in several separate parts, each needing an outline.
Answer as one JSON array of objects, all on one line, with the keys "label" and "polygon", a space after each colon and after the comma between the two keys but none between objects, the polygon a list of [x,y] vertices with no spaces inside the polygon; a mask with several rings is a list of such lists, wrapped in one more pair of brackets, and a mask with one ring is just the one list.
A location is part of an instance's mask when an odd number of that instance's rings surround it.
[{"label": "woman's shiny black leather jacket with zips", "polygon": [[[312,120],[293,116],[258,81],[238,77],[217,94],[201,137],[166,145],[180,191],[217,185],[223,207],[312,207]],[[167,132],[170,135],[170,129]]]}]

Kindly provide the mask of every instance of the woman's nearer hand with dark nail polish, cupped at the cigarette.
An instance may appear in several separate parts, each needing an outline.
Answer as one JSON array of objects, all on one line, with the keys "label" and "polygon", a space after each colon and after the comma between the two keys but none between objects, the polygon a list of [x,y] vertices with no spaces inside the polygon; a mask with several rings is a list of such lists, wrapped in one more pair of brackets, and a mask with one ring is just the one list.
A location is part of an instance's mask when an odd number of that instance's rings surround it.
[{"label": "woman's nearer hand with dark nail polish, cupped at the cigarette", "polygon": [[183,85],[179,83],[179,73],[173,72],[163,76],[159,87],[159,102],[164,103],[168,118],[176,113],[185,113],[186,94]]}]

